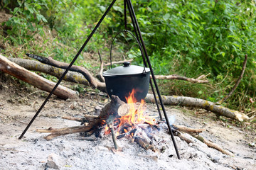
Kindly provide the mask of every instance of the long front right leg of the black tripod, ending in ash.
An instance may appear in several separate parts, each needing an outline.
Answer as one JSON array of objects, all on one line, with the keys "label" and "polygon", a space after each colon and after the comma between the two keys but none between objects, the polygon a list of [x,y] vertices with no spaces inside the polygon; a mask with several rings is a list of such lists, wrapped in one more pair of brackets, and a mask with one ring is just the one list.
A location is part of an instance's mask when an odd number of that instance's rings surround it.
[{"label": "long front right leg of the black tripod, ending in ash", "polygon": [[128,4],[128,6],[129,6],[129,8],[131,8],[131,11],[132,11],[131,17],[134,18],[135,26],[136,26],[136,28],[137,28],[137,30],[138,30],[138,33],[139,33],[139,39],[140,39],[141,42],[142,42],[142,47],[143,47],[143,50],[144,50],[145,55],[146,55],[146,61],[147,61],[147,63],[149,64],[149,69],[150,69],[150,71],[151,71],[151,75],[152,75],[152,78],[153,78],[153,81],[154,81],[154,85],[155,85],[155,87],[156,87],[156,92],[157,92],[157,94],[158,94],[158,96],[159,96],[159,101],[160,101],[160,103],[161,103],[161,108],[163,109],[163,112],[164,112],[164,117],[165,117],[165,119],[166,119],[166,123],[167,123],[168,129],[169,129],[169,132],[171,133],[171,139],[172,139],[172,141],[173,141],[173,143],[174,143],[174,148],[175,148],[175,150],[176,150],[177,157],[178,157],[178,159],[181,159],[181,157],[180,157],[179,154],[178,154],[178,148],[177,148],[177,146],[176,146],[176,142],[175,142],[175,139],[174,139],[174,134],[173,134],[173,132],[172,132],[172,130],[171,130],[171,125],[170,125],[170,123],[169,123],[169,118],[168,118],[168,116],[167,116],[167,114],[166,114],[166,111],[165,111],[165,108],[164,108],[164,103],[163,103],[163,101],[161,100],[161,94],[160,94],[159,88],[158,88],[158,86],[157,86],[157,84],[156,84],[156,79],[155,79],[155,77],[154,77],[154,72],[153,72],[153,69],[152,69],[152,67],[151,67],[151,63],[150,63],[150,60],[149,60],[149,56],[148,56],[148,54],[147,54],[147,52],[146,52],[146,47],[145,47],[145,44],[144,44],[144,41],[143,41],[143,38],[142,38],[142,33],[141,33],[140,29],[139,29],[139,24],[138,24],[137,18],[136,18],[135,13],[134,13],[134,8],[133,8],[133,6],[132,6],[132,1],[131,1],[131,0],[127,0],[127,4]]}]

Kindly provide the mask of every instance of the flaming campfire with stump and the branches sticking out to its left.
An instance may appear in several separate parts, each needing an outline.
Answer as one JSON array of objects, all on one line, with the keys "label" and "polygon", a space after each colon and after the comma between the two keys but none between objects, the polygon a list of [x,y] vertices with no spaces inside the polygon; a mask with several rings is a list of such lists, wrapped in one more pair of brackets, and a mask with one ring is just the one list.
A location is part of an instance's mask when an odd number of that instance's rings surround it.
[{"label": "flaming campfire with stump and the branches sticking out to its left", "polygon": [[83,132],[86,137],[95,134],[100,135],[112,134],[114,148],[118,149],[117,140],[127,137],[137,142],[144,149],[158,151],[155,147],[153,139],[154,133],[158,132],[159,126],[155,117],[146,113],[146,104],[144,100],[137,101],[134,97],[135,90],[126,97],[127,102],[121,101],[117,96],[111,96],[111,102],[108,103],[99,116],[85,115],[85,118],[64,117],[69,120],[77,120],[82,126],[71,128],[37,130],[38,132],[51,132],[46,136],[46,140],[53,137],[67,135],[75,132]]}]

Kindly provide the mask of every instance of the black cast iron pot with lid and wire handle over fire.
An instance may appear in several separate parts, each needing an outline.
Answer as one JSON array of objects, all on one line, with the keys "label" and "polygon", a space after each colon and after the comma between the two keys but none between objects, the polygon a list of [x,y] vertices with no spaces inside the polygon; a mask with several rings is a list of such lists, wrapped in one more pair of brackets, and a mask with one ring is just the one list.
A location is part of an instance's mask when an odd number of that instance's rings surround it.
[{"label": "black cast iron pot with lid and wire handle over fire", "polygon": [[[119,33],[126,32],[130,33],[135,40],[135,36],[128,30],[122,30]],[[117,33],[117,35],[119,35]],[[114,37],[114,39],[117,37]],[[114,42],[112,40],[112,45]],[[142,52],[142,47],[137,40],[139,49]],[[110,67],[111,69],[103,72],[103,77],[105,77],[105,83],[107,87],[107,94],[110,96],[112,94],[118,96],[122,101],[127,102],[126,97],[135,90],[134,97],[137,101],[141,101],[146,97],[149,91],[149,79],[150,79],[150,69],[145,67],[140,67],[137,65],[130,65],[129,62],[124,62],[123,66],[115,67],[112,69],[112,45],[110,50]],[[142,54],[143,55],[143,54]]]}]

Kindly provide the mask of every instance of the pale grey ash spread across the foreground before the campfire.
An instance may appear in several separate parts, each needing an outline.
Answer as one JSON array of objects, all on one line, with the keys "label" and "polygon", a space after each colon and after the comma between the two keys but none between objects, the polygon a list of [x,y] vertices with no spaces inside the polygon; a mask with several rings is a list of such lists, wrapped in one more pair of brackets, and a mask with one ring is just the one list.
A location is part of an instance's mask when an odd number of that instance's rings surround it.
[{"label": "pale grey ash spread across the foreground before the campfire", "polygon": [[[78,140],[79,134],[50,141],[28,132],[26,138],[0,150],[1,167],[8,169],[233,169],[234,157],[228,157],[201,142],[188,145],[175,137],[181,159],[176,157],[171,137],[164,123],[157,130],[156,147],[161,152],[145,150],[127,137],[117,140],[122,151],[113,152],[111,135],[95,140]],[[14,140],[14,139],[13,139]],[[14,142],[14,141],[13,141]],[[50,159],[53,155],[55,159]],[[237,158],[238,159],[238,158]],[[54,163],[54,164],[53,164]],[[246,162],[247,164],[253,162]]]}]

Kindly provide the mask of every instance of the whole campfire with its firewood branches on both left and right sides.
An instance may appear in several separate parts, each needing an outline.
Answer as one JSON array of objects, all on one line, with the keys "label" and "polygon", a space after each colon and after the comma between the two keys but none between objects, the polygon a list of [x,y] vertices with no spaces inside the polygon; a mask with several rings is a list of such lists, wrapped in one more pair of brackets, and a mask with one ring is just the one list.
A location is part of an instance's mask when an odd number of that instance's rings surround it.
[{"label": "whole campfire with its firewood branches on both left and right sides", "polygon": [[[126,97],[127,103],[121,101],[118,96],[112,95],[111,102],[102,108],[99,116],[85,115],[84,118],[63,117],[64,119],[79,121],[82,124],[80,126],[60,129],[39,129],[37,132],[50,132],[50,135],[44,137],[46,140],[75,132],[82,132],[84,137],[90,137],[93,134],[96,137],[111,134],[114,144],[113,152],[122,150],[122,148],[118,147],[117,140],[123,137],[126,137],[131,142],[137,142],[139,146],[146,150],[151,149],[157,153],[164,152],[164,149],[161,148],[162,146],[159,145],[162,141],[159,140],[157,134],[161,130],[160,126],[164,127],[166,123],[162,120],[156,120],[154,116],[148,115],[144,100],[137,101],[134,97],[135,93],[135,90],[129,93],[129,96]],[[180,137],[181,140],[193,143],[193,140],[191,140],[192,136],[206,143],[208,147],[213,147],[224,154],[231,155],[230,152],[198,135],[200,132],[205,131],[205,129],[193,129],[181,125],[171,126],[172,132]],[[166,127],[166,131],[167,129]]]}]

